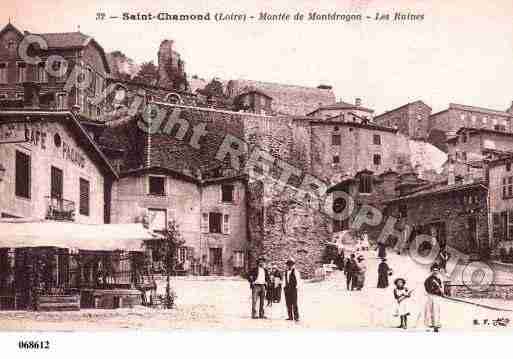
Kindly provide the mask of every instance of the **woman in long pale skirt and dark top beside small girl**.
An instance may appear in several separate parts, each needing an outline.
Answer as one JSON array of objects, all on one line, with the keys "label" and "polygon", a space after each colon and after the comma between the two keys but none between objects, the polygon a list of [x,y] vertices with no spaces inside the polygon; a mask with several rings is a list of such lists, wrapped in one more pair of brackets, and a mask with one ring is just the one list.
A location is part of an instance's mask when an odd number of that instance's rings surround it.
[{"label": "woman in long pale skirt and dark top beside small girl", "polygon": [[437,333],[440,329],[440,298],[443,296],[443,282],[440,278],[440,267],[438,264],[431,266],[431,274],[424,281],[424,288],[426,289],[427,298],[424,307],[424,324],[428,328],[433,328]]}]

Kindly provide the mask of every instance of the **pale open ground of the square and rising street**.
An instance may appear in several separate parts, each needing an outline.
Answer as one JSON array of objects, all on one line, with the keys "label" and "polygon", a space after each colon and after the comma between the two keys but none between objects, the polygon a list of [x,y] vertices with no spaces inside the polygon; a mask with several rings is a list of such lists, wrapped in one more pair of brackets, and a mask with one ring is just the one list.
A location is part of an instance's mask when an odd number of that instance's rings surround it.
[{"label": "pale open ground of the square and rising street", "polygon": [[[377,289],[377,264],[374,252],[368,253],[366,287],[360,292],[345,288],[345,277],[336,271],[326,281],[305,282],[300,293],[299,323],[286,321],[285,304],[266,308],[268,319],[251,319],[250,289],[241,279],[197,280],[173,279],[178,294],[178,307],[173,310],[147,308],[121,310],[82,310],[67,313],[0,312],[1,330],[112,330],[112,329],[275,329],[298,330],[399,330],[392,316],[392,287]],[[424,302],[423,279],[426,269],[406,257],[389,255],[394,276],[405,277],[415,289],[411,303],[410,330],[422,330],[418,315]],[[392,279],[393,280],[393,279]],[[506,307],[505,301],[494,304]],[[511,305],[509,305],[511,306]],[[512,313],[472,305],[444,302],[444,329],[492,329],[476,326],[474,319],[490,321]],[[513,325],[513,324],[512,324]],[[394,329],[393,329],[394,328]]]}]

